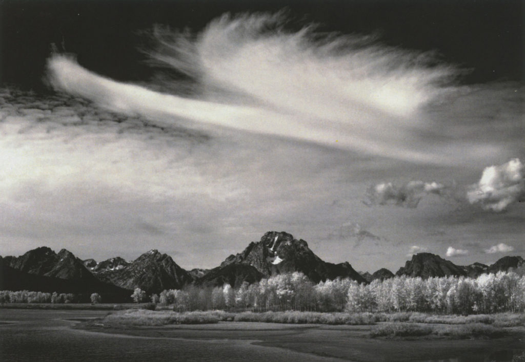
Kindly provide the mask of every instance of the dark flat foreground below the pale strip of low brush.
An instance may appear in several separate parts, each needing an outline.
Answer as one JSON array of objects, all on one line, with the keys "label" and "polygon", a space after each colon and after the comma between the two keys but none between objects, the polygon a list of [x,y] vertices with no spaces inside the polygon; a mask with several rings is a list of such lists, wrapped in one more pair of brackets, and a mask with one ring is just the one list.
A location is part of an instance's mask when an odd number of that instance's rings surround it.
[{"label": "dark flat foreground below the pale strip of low brush", "polygon": [[[374,326],[219,322],[96,325],[103,311],[0,310],[2,360],[510,361],[525,328],[496,339],[370,338]],[[99,321],[100,322],[100,321]],[[101,323],[98,323],[101,324]]]}]

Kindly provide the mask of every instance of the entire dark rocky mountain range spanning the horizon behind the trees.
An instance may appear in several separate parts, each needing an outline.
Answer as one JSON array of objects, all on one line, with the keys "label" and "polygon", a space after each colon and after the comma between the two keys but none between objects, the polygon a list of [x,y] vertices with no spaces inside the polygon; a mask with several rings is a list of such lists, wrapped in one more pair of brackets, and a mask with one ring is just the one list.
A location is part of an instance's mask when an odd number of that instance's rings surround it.
[{"label": "entire dark rocky mountain range spanning the horizon behind the trees", "polygon": [[204,287],[228,283],[238,288],[243,282],[254,283],[262,278],[289,272],[302,272],[312,282],[327,279],[350,278],[359,283],[392,278],[394,275],[470,276],[507,271],[525,267],[521,257],[503,257],[492,265],[474,263],[456,265],[432,253],[418,253],[395,274],[381,268],[370,274],[356,272],[348,262],[333,264],[323,261],[302,239],[286,232],[269,231],[258,242],[250,242],[246,249],[229,255],[211,270],[186,271],[166,254],[150,250],[134,261],[120,257],[97,263],[93,259],[80,260],[66,249],[55,253],[47,247],[30,250],[20,257],[0,257],[0,290],[35,290],[43,292],[98,292],[104,301],[122,301],[129,298],[134,288],[146,293],[165,289],[181,289],[186,285]]}]

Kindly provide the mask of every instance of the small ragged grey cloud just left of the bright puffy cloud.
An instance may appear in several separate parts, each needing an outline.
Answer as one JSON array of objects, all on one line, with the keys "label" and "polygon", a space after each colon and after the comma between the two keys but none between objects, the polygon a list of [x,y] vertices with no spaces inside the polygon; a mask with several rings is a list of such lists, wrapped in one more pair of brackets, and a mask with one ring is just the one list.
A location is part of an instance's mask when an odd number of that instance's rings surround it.
[{"label": "small ragged grey cloud just left of the bright puffy cloud", "polygon": [[415,208],[427,194],[444,195],[447,187],[436,182],[411,181],[400,187],[381,183],[366,190],[366,205],[396,205]]}]

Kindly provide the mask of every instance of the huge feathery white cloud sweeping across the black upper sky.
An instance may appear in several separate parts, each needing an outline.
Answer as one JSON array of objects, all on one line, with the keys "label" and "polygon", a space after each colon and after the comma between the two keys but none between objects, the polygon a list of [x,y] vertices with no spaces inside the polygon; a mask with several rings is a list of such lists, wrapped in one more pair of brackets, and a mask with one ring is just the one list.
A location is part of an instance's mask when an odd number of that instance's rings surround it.
[{"label": "huge feathery white cloud sweeping across the black upper sky", "polygon": [[114,82],[65,56],[49,59],[49,80],[162,125],[219,125],[419,163],[475,162],[501,151],[501,134],[458,140],[471,123],[455,126],[436,120],[444,116],[439,107],[426,109],[458,96],[477,102],[475,92],[451,85],[454,67],[370,37],[321,36],[311,27],[289,32],[283,20],[223,16],[198,35],[154,32],[152,58],[198,84],[191,98]]}]

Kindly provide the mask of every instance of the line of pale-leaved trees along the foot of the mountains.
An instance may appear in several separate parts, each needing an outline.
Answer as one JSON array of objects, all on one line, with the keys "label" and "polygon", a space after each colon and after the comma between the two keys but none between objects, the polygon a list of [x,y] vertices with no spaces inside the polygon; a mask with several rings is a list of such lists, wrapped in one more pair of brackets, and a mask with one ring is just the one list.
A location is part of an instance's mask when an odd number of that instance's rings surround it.
[{"label": "line of pale-leaved trees along the foot of the mountains", "polygon": [[[189,285],[148,295],[136,288],[134,302],[171,306],[185,311],[313,311],[313,312],[430,312],[475,314],[525,312],[525,272],[481,274],[478,278],[395,276],[359,284],[350,279],[312,283],[295,272],[259,282],[215,288]],[[98,293],[91,303],[100,303]],[[74,303],[75,294],[0,291],[0,303]]]}]

